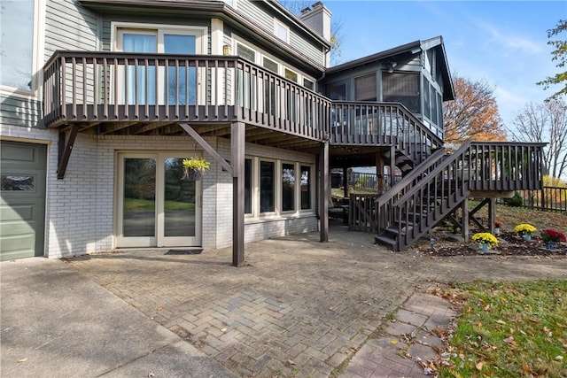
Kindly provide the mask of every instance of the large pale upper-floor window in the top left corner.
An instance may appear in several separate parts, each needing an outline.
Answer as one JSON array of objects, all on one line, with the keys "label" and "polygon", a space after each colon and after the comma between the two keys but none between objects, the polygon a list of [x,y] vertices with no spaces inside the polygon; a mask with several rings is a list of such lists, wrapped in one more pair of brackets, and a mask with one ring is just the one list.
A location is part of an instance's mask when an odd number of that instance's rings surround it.
[{"label": "large pale upper-floor window in the top left corner", "polygon": [[2,75],[0,84],[32,89],[34,58],[34,0],[3,0],[0,7]]}]

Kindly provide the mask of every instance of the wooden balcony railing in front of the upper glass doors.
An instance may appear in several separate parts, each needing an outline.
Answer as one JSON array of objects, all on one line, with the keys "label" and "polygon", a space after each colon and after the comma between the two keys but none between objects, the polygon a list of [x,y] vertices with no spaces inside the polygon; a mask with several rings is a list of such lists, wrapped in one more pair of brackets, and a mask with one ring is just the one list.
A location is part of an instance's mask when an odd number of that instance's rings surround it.
[{"label": "wooden balcony railing in front of the upper glass doors", "polygon": [[43,67],[44,120],[231,122],[322,140],[330,100],[244,59],[56,51]]}]

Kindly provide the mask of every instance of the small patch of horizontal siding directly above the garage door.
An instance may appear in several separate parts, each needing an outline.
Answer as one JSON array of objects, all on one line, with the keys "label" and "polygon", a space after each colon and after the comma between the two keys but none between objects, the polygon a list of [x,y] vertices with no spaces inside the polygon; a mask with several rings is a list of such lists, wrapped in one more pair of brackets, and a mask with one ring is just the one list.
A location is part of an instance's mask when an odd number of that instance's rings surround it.
[{"label": "small patch of horizontal siding directly above the garage door", "polygon": [[0,93],[0,124],[42,127],[42,104],[39,100]]}]

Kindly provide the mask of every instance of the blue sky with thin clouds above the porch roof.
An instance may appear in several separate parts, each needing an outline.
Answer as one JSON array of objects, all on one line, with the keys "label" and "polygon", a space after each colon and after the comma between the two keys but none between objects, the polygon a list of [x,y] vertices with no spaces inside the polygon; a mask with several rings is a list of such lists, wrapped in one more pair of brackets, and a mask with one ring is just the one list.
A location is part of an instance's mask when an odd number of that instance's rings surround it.
[{"label": "blue sky with thin clouds above the porch roof", "polygon": [[442,35],[451,72],[488,82],[506,126],[553,93],[535,83],[558,72],[547,31],[567,19],[567,1],[323,3],[343,22],[341,62]]}]

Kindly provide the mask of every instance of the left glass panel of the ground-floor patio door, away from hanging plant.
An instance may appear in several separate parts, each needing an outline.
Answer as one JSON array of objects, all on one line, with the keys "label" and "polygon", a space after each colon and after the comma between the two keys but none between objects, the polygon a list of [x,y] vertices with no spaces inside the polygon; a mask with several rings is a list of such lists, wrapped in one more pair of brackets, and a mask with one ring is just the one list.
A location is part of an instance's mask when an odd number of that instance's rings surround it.
[{"label": "left glass panel of the ground-floor patio door, away from hanging plant", "polygon": [[124,158],[122,177],[120,234],[151,243],[148,238],[156,235],[156,159]]}]

